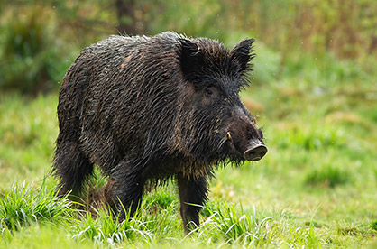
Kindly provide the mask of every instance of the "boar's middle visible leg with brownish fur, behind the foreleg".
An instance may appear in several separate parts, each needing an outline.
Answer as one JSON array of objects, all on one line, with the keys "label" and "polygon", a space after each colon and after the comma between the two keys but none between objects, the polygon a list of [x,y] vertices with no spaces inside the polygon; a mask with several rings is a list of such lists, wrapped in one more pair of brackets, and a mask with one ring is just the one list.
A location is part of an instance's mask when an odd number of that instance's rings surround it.
[{"label": "boar's middle visible leg with brownish fur, behind the foreleg", "polygon": [[125,212],[130,212],[130,217],[133,217],[142,201],[145,180],[138,168],[128,161],[121,161],[111,172],[105,186],[106,202],[114,211],[120,212],[120,220],[126,217]]}]

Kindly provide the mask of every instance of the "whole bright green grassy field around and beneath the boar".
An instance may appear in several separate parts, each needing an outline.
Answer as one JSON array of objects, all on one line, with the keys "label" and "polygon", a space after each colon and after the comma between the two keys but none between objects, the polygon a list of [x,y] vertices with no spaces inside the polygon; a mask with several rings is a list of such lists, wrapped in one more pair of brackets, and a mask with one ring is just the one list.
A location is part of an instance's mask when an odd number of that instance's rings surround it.
[{"label": "whole bright green grassy field around and beneath the boar", "polygon": [[146,194],[124,223],[57,200],[57,92],[1,94],[0,248],[377,247],[376,76],[330,56],[292,57],[281,69],[269,51],[258,58],[242,97],[269,152],[216,172],[188,237],[173,183]]}]

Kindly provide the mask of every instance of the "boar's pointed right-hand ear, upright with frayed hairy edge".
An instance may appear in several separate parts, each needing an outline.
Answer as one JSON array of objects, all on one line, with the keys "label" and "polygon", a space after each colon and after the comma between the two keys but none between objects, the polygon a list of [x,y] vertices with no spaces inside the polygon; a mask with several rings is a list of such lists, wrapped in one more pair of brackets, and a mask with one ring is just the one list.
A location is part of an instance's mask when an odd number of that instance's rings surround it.
[{"label": "boar's pointed right-hand ear, upright with frayed hairy edge", "polygon": [[235,63],[235,67],[238,68],[238,73],[244,73],[249,69],[251,65],[249,62],[254,59],[252,45],[255,40],[246,39],[234,46],[234,49],[230,52],[231,60]]}]

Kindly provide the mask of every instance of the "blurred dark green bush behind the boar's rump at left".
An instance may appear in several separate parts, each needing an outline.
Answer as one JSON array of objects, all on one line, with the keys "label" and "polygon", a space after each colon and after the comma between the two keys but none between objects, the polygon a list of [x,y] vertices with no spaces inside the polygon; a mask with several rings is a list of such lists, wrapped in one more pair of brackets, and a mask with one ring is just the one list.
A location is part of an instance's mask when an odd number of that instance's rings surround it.
[{"label": "blurred dark green bush behind the boar's rump at left", "polygon": [[64,60],[65,49],[52,33],[51,14],[40,6],[7,13],[2,20],[0,88],[36,94],[57,86],[71,61]]}]

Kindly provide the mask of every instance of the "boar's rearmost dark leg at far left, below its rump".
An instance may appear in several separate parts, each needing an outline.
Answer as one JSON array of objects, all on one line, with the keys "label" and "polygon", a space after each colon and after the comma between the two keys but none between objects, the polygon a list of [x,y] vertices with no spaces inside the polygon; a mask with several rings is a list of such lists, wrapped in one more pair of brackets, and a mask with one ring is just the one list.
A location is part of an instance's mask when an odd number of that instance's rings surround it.
[{"label": "boar's rearmost dark leg at far left, below its rump", "polygon": [[78,196],[82,184],[93,171],[93,163],[85,156],[77,143],[57,143],[53,170],[60,178],[58,197],[69,190],[73,196]]}]

